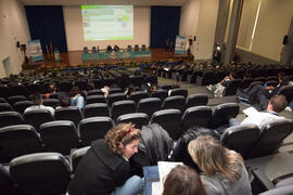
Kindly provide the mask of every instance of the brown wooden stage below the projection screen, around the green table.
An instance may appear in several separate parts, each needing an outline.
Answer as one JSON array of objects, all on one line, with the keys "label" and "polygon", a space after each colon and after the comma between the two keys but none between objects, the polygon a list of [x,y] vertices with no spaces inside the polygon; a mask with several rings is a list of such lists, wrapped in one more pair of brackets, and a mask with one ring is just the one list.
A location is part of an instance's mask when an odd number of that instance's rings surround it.
[{"label": "brown wooden stage below the projection screen, around the green table", "polygon": [[[148,51],[148,50],[146,50]],[[151,49],[151,55],[138,56],[138,57],[124,57],[123,61],[125,63],[140,63],[140,62],[154,62],[154,61],[179,61],[182,60],[188,62],[193,60],[193,55],[187,54],[175,54],[174,52],[165,52],[165,49]],[[102,53],[102,52],[101,52]],[[97,53],[89,53],[90,55]],[[61,52],[60,57],[61,61],[52,61],[48,57],[47,54],[43,56],[43,61],[31,62],[30,60],[27,63],[23,64],[23,70],[27,69],[47,69],[54,67],[77,67],[77,66],[94,66],[94,65],[104,65],[104,64],[118,64],[120,58],[104,58],[104,60],[91,60],[84,58],[82,61],[82,51],[69,51],[69,52]]]}]

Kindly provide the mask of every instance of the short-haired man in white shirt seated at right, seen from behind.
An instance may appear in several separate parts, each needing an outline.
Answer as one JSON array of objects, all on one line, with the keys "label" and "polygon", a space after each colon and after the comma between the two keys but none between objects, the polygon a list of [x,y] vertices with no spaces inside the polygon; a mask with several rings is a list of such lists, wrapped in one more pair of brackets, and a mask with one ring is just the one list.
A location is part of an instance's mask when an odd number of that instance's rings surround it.
[{"label": "short-haired man in white shirt seated at right, seen from behind", "polygon": [[[285,118],[282,116],[278,116],[279,113],[284,110],[288,102],[284,95],[276,94],[273,95],[267,106],[266,112],[257,112],[249,115],[241,123],[254,123],[258,126],[260,130],[263,130],[267,123],[284,120]],[[238,125],[239,121],[235,119],[230,119],[230,126]]]}]

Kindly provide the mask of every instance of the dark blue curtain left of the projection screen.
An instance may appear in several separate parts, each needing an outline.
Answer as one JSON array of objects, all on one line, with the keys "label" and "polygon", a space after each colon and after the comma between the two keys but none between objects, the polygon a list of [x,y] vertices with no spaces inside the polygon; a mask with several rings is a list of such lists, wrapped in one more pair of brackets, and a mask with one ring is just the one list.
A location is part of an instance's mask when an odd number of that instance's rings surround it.
[{"label": "dark blue curtain left of the projection screen", "polygon": [[50,49],[58,48],[67,51],[65,26],[62,6],[25,6],[31,40],[40,39],[41,49],[46,52],[46,44]]}]

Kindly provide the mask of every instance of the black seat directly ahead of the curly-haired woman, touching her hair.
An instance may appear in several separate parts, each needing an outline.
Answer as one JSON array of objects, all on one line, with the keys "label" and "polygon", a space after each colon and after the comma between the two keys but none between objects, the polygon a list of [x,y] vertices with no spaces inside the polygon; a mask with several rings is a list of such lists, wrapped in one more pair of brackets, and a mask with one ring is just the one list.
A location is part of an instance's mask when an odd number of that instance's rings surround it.
[{"label": "black seat directly ahead of the curly-haired woman, touching her hair", "polygon": [[82,146],[88,146],[92,141],[103,139],[105,133],[114,127],[110,117],[90,117],[79,122],[78,131]]}]

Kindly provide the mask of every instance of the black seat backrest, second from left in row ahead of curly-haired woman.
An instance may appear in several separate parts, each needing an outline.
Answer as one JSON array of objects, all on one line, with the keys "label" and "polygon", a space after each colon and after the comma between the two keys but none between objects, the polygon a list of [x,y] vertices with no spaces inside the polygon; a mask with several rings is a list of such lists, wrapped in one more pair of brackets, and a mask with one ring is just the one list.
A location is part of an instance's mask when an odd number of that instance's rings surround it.
[{"label": "black seat backrest, second from left in row ahead of curly-haired woman", "polygon": [[71,154],[78,145],[78,134],[73,121],[55,120],[40,126],[40,135],[48,152]]}]

